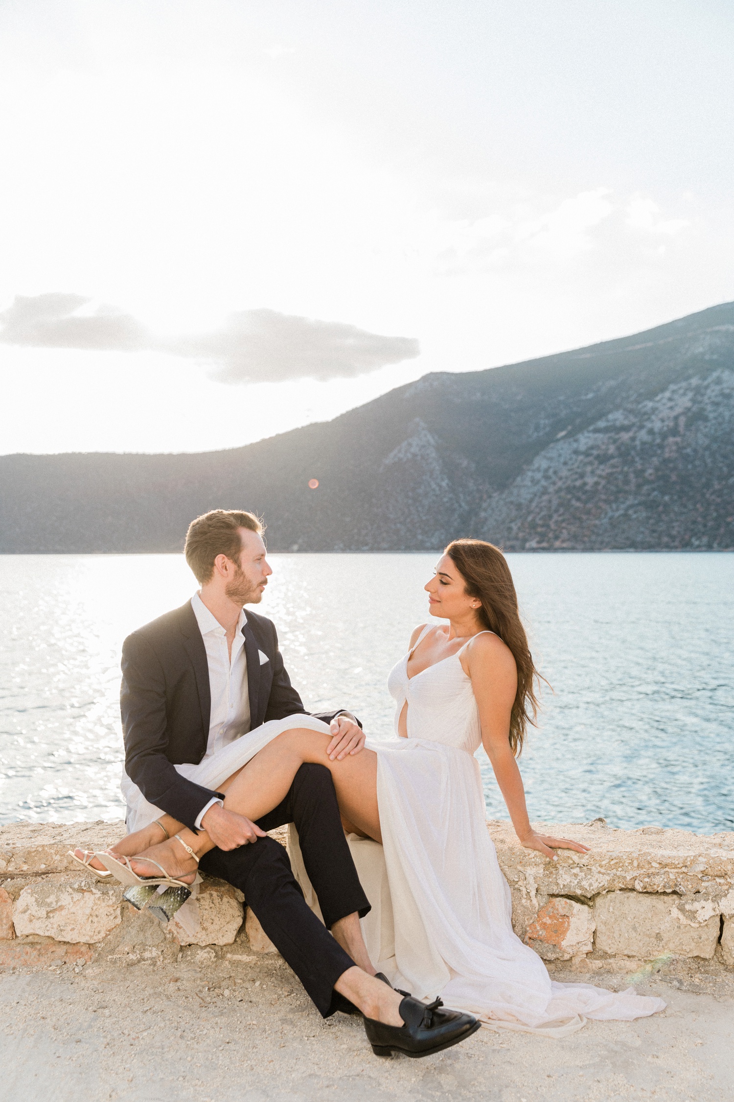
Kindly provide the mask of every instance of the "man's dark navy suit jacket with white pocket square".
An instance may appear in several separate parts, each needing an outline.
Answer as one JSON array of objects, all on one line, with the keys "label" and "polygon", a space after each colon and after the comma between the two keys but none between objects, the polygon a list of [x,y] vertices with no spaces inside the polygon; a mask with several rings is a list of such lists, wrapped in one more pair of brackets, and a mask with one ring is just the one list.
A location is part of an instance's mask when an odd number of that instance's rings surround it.
[{"label": "man's dark navy suit jacket with white pocket square", "polygon": [[[248,661],[250,725],[308,715],[291,684],[275,625],[247,612],[242,628]],[[259,650],[269,661],[260,663]],[[207,750],[211,695],[204,639],[189,601],[129,635],[122,645],[120,711],[125,773],[146,800],[190,827],[219,793],[187,780],[174,765],[201,760]],[[314,713],[330,723],[335,712]]]}]

